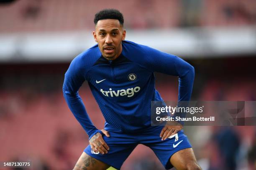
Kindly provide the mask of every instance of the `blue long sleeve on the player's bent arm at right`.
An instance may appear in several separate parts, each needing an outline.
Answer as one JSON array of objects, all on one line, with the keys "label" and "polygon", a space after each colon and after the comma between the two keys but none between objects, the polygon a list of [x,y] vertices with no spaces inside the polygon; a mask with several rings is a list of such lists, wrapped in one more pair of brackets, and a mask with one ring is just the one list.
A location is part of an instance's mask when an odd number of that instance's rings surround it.
[{"label": "blue long sleeve on the player's bent arm at right", "polygon": [[[152,69],[152,71],[179,77],[178,107],[188,106],[188,102],[181,101],[190,100],[195,77],[194,67],[175,55],[170,55],[149,47],[146,49],[148,68]],[[185,114],[176,113],[174,116],[185,117]],[[184,122],[180,123],[184,125]]]}]

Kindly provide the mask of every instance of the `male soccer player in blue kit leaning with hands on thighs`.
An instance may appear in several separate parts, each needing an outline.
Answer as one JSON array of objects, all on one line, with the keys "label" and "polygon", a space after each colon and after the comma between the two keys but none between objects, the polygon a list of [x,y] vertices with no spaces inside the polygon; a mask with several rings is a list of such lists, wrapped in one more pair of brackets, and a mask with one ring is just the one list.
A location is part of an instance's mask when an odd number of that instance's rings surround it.
[{"label": "male soccer player in blue kit leaning with hands on thighs", "polygon": [[[179,76],[178,100],[188,101],[194,68],[177,56],[126,41],[123,22],[118,10],[97,13],[97,45],[75,57],[65,74],[64,97],[90,143],[74,170],[120,169],[138,144],[151,148],[166,169],[199,170],[183,125],[151,126],[151,101],[163,101],[154,72]],[[104,130],[92,124],[78,94],[84,80],[105,117]]]}]

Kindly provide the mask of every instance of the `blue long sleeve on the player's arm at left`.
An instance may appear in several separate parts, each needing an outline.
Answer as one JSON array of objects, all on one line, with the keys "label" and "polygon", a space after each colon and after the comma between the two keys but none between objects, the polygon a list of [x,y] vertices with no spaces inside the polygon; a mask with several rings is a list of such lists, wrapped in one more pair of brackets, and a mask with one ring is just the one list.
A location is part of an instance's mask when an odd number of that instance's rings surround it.
[{"label": "blue long sleeve on the player's arm at left", "polygon": [[95,135],[99,130],[95,128],[90,117],[88,116],[84,103],[78,94],[79,87],[84,82],[85,70],[83,67],[82,56],[77,56],[71,62],[67,70],[63,84],[63,95],[76,119],[86,131],[89,139]]}]

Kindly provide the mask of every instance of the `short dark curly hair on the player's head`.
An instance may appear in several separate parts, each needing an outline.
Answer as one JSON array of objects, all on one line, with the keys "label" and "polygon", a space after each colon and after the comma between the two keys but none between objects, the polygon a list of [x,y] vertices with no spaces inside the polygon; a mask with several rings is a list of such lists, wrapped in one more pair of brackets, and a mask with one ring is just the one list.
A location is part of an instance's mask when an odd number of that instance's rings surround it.
[{"label": "short dark curly hair on the player's head", "polygon": [[105,9],[101,10],[95,14],[94,24],[96,25],[99,20],[105,19],[116,19],[119,20],[120,24],[123,26],[123,14],[119,10],[115,9]]}]

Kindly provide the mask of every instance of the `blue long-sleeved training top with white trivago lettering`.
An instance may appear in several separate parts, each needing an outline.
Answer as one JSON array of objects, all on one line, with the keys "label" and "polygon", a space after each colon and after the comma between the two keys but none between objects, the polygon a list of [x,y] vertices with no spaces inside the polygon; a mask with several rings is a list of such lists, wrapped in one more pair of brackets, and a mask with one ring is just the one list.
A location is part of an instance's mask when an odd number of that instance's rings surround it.
[{"label": "blue long-sleeved training top with white trivago lettering", "polygon": [[105,59],[97,45],[71,62],[64,78],[63,93],[70,110],[91,138],[99,132],[87,115],[78,94],[88,81],[106,123],[126,133],[151,125],[151,101],[163,101],[155,89],[154,72],[179,76],[179,101],[189,101],[194,67],[181,58],[131,41],[122,42],[122,53]]}]

